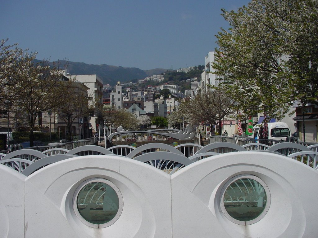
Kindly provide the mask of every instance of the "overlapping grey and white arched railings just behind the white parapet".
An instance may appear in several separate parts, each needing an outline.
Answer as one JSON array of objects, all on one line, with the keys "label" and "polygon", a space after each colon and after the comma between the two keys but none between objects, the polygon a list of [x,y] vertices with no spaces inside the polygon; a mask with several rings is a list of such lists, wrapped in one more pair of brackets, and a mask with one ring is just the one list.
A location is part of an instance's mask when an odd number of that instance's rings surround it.
[{"label": "overlapping grey and white arched railings just behind the white parapet", "polygon": [[[176,147],[171,145],[167,145],[164,143],[149,143],[142,145],[138,148],[134,148],[132,146],[114,146],[108,149],[105,149],[96,145],[88,145],[88,146],[80,146],[74,149],[68,150],[63,148],[51,148],[45,151],[38,151],[35,149],[22,149],[9,153],[8,155],[1,154],[0,164],[4,164],[12,169],[15,169],[21,173],[24,173],[24,170],[29,167],[32,163],[33,170],[28,168],[25,173],[31,174],[37,169],[40,169],[48,164],[56,162],[58,157],[57,155],[72,155],[72,156],[83,156],[83,155],[121,155],[127,156],[128,158],[135,159],[144,155],[142,160],[149,159],[151,152],[169,152],[167,156],[164,158],[164,162],[167,164],[173,164],[172,169],[178,168],[181,169],[184,166],[179,165],[180,161],[183,161],[183,165],[187,163],[202,160],[206,157],[224,154],[235,151],[265,151],[280,155],[288,156],[294,160],[297,160],[301,163],[307,164],[308,166],[316,169],[318,166],[318,152],[315,151],[317,147],[311,146],[310,148],[305,147],[300,144],[284,142],[275,144],[273,146],[267,146],[261,143],[250,143],[243,147],[236,145],[230,142],[215,142],[212,144],[208,144],[206,146],[199,146],[196,144],[181,144]],[[148,156],[149,155],[149,156]],[[67,159],[68,157],[61,157],[63,159]],[[175,159],[183,157],[184,159],[175,163]],[[50,157],[53,160],[50,160]],[[45,159],[44,159],[45,158]],[[141,158],[141,157],[140,157]],[[152,157],[155,158],[155,157]],[[156,159],[153,164],[157,164]],[[159,159],[158,159],[159,160]],[[145,161],[143,161],[145,162]],[[152,162],[151,162],[152,163]],[[178,169],[173,170],[176,172]],[[171,171],[168,171],[171,173]]]}]

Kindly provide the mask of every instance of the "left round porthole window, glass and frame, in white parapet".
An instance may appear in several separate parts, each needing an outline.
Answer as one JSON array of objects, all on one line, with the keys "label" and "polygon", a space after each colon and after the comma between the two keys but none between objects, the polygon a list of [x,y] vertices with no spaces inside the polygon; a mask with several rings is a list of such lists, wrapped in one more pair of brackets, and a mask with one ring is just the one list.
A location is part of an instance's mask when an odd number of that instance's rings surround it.
[{"label": "left round porthole window, glass and frame, in white parapet", "polygon": [[123,199],[114,183],[94,178],[86,180],[76,189],[73,208],[83,223],[103,228],[117,221],[123,209]]}]

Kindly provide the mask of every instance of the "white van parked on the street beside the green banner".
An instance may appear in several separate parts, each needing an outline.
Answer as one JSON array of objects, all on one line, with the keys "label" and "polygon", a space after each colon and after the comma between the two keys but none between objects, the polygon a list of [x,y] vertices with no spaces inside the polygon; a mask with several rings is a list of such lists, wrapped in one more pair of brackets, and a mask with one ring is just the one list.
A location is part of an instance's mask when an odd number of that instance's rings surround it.
[{"label": "white van parked on the street beside the green banner", "polygon": [[[256,124],[253,126],[253,135],[257,140],[260,138],[261,126],[263,124]],[[272,140],[286,140],[287,136],[291,136],[290,129],[285,122],[269,122],[268,123],[268,139]]]}]

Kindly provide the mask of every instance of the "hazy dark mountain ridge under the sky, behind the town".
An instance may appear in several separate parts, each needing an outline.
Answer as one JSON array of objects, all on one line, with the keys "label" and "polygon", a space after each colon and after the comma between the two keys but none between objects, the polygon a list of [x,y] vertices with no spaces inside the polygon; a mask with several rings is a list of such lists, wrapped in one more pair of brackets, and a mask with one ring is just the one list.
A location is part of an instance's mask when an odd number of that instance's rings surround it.
[{"label": "hazy dark mountain ridge under the sky, behind the town", "polygon": [[[57,67],[57,62],[55,63],[55,66]],[[50,64],[53,65],[53,62]],[[107,64],[86,64],[65,60],[59,61],[59,68],[64,69],[64,65],[66,64],[69,65],[69,73],[71,75],[96,74],[103,81],[103,84],[109,84],[111,86],[114,86],[118,81],[122,83],[131,82],[133,80],[144,79],[151,75],[162,74],[167,71],[167,69],[142,70],[138,68],[128,68]]]}]

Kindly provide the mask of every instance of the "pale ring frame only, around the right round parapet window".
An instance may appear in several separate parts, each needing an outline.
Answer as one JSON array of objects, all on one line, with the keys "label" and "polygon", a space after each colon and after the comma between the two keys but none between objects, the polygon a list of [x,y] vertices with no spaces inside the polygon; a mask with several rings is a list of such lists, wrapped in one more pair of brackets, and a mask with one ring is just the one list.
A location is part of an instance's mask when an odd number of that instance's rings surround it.
[{"label": "pale ring frame only, around the right round parapet window", "polygon": [[[265,205],[265,208],[264,210],[261,212],[261,214],[259,214],[256,218],[250,220],[250,221],[239,221],[235,218],[233,218],[225,209],[225,205],[224,205],[224,195],[225,195],[225,191],[226,189],[229,187],[229,185],[238,180],[238,179],[243,179],[243,178],[249,178],[249,179],[253,179],[255,180],[256,182],[259,182],[260,185],[263,186],[264,190],[265,190],[265,193],[266,193],[266,205]],[[220,205],[220,208],[221,208],[221,211],[223,213],[223,215],[230,221],[232,221],[233,223],[235,224],[238,224],[238,225],[252,225],[258,221],[260,221],[261,219],[263,219],[263,217],[267,214],[268,210],[269,210],[269,207],[270,207],[270,204],[271,204],[271,194],[270,194],[270,191],[269,191],[269,188],[267,186],[267,184],[262,180],[260,179],[259,177],[255,176],[255,175],[251,175],[251,174],[241,174],[241,175],[236,175],[232,178],[230,178],[223,186],[222,190],[221,190],[221,196],[220,196],[220,202],[219,202],[219,205]]]}]

